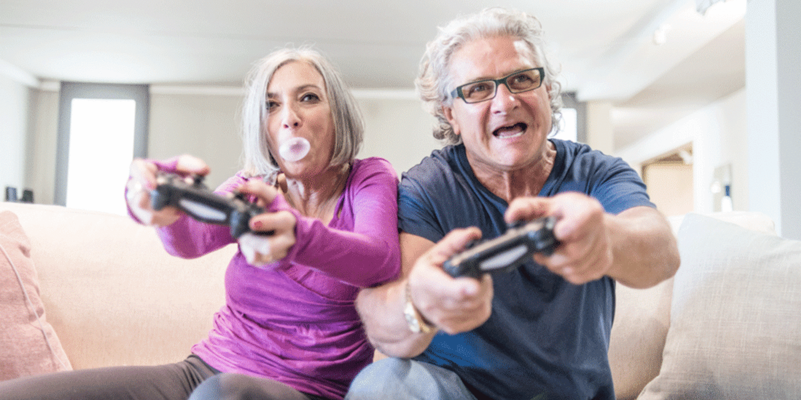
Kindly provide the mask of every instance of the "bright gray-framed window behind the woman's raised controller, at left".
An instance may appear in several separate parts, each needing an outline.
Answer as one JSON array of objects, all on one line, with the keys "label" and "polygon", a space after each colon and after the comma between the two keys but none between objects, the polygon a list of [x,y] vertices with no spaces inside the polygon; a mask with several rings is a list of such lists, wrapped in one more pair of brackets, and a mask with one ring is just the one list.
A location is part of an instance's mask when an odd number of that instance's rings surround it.
[{"label": "bright gray-framed window behind the woman's raised controller, at left", "polygon": [[134,157],[147,157],[147,85],[62,82],[54,203],[127,214]]}]

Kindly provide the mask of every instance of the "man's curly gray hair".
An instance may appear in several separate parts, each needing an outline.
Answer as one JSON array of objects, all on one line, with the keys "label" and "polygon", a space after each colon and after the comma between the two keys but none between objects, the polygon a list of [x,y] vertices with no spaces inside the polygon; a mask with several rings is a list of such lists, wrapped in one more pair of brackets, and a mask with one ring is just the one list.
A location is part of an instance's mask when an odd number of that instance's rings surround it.
[{"label": "man's curly gray hair", "polygon": [[557,81],[559,71],[545,57],[545,38],[539,20],[523,12],[493,7],[453,20],[447,26],[441,27],[437,38],[426,46],[420,62],[420,73],[414,83],[424,108],[437,118],[434,138],[444,141],[445,144],[461,143],[461,136],[453,132],[453,126],[442,111],[442,106],[453,104],[451,91],[457,85],[467,83],[452,82],[452,77],[449,76],[453,54],[469,42],[497,36],[521,40],[528,48],[528,56],[534,65],[545,67],[543,83],[549,87],[551,123],[558,129],[558,122],[562,118],[562,83]]}]

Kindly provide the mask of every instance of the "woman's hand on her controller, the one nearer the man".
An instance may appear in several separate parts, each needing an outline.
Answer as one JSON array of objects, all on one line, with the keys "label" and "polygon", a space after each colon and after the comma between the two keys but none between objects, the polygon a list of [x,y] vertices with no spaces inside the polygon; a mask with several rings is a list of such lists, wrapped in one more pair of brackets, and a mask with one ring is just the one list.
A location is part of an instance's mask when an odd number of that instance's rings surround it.
[{"label": "woman's hand on her controller, the one nearer the man", "polygon": [[[276,198],[278,190],[260,180],[253,179],[239,187],[245,194],[255,195],[256,205],[266,208]],[[272,234],[247,233],[239,237],[242,254],[253,266],[264,266],[286,257],[289,248],[295,244],[295,224],[297,220],[289,211],[276,213],[266,212],[251,218],[249,226],[254,232]]]}]

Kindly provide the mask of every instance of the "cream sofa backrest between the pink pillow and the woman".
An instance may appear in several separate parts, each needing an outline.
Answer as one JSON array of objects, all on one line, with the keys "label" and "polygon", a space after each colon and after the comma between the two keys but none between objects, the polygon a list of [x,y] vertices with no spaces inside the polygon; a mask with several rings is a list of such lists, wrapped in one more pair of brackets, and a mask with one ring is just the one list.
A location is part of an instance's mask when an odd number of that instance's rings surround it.
[{"label": "cream sofa backrest between the pink pillow and the woman", "polygon": [[179,362],[225,302],[236,251],[173,257],[127,216],[2,203],[30,238],[42,302],[74,369]]}]

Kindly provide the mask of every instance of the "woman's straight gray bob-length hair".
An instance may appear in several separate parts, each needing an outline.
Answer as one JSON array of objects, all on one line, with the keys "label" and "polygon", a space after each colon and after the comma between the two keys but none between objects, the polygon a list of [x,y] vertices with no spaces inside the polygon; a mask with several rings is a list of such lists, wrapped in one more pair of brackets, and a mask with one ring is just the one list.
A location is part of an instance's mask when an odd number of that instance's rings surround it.
[{"label": "woman's straight gray bob-length hair", "polygon": [[245,82],[242,106],[242,142],[244,170],[250,176],[272,177],[278,172],[278,149],[267,140],[267,87],[272,75],[288,62],[307,62],[323,77],[325,94],[334,123],[334,152],[330,166],[340,166],[356,158],[364,135],[359,106],[348,86],[331,62],[309,48],[281,49],[260,59]]}]

